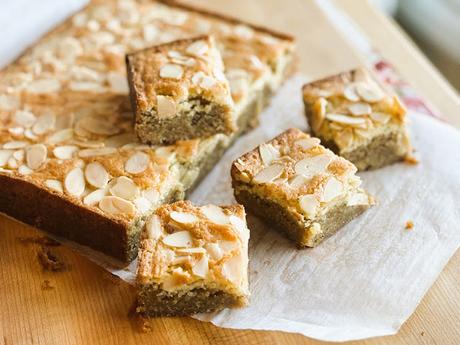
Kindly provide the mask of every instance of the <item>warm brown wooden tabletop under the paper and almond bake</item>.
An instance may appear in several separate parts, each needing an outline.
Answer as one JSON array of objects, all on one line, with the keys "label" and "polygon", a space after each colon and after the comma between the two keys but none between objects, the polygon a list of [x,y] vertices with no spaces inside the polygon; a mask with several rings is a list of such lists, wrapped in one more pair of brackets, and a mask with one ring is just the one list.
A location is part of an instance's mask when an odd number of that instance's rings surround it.
[{"label": "warm brown wooden tabletop under the paper and almond bake", "polygon": [[[189,0],[297,36],[300,69],[320,77],[360,57],[310,0]],[[455,91],[399,28],[364,0],[336,0],[452,123]],[[191,318],[141,320],[134,289],[65,246],[0,215],[0,344],[318,344],[297,334],[217,328]],[[54,270],[54,271],[53,271]],[[408,282],[410,284],[410,282]],[[460,252],[397,335],[350,344],[459,344]]]}]

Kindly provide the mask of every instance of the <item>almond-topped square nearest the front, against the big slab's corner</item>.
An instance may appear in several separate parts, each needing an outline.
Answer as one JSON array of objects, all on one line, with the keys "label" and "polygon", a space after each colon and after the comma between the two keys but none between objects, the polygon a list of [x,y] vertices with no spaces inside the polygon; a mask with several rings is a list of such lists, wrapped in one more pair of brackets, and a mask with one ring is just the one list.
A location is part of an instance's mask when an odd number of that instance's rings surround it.
[{"label": "almond-topped square nearest the front, against the big slab's corner", "polygon": [[161,206],[140,245],[137,311],[176,316],[247,305],[248,241],[241,205]]}]

